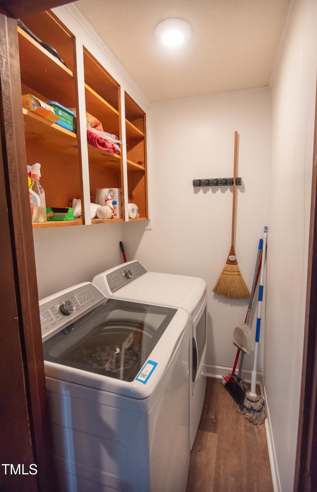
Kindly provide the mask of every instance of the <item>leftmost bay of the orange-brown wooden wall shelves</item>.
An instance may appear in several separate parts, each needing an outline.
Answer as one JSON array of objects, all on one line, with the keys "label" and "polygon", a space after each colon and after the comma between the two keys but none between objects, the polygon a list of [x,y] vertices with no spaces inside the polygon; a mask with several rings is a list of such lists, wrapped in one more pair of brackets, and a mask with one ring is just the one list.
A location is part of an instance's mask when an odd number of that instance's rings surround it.
[{"label": "leftmost bay of the orange-brown wooden wall shelves", "polygon": [[[32,94],[42,101],[56,101],[76,108],[74,38],[52,12],[21,19],[43,42],[53,46],[65,66],[24,29],[18,27],[21,94]],[[74,197],[82,198],[81,155],[76,133],[22,109],[27,163],[41,164],[41,184],[48,207],[69,207]],[[34,228],[81,225],[80,221],[46,222]]]}]

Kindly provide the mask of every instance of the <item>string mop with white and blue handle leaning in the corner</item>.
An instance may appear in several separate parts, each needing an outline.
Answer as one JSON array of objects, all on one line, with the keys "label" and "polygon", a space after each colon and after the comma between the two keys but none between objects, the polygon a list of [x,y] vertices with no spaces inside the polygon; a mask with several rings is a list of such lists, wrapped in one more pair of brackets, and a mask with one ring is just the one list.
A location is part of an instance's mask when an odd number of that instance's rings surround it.
[{"label": "string mop with white and blue handle leaning in the corner", "polygon": [[258,362],[258,347],[260,341],[260,328],[261,328],[261,308],[263,300],[263,279],[264,279],[264,264],[266,257],[266,240],[267,240],[267,227],[264,227],[263,236],[263,252],[262,252],[262,265],[261,265],[261,275],[260,275],[260,285],[259,285],[259,302],[258,302],[258,318],[257,318],[257,329],[256,329],[256,343],[254,351],[254,366],[251,376],[251,391],[247,393],[242,413],[245,414],[246,419],[252,424],[263,424],[266,419],[266,408],[263,396],[258,396],[256,392],[257,386],[257,362]]}]

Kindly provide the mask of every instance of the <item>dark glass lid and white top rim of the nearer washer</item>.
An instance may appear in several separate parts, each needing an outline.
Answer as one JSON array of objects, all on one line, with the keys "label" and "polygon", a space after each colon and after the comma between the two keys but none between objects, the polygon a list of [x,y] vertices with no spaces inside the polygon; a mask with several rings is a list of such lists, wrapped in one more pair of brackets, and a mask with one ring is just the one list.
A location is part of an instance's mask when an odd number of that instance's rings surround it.
[{"label": "dark glass lid and white top rim of the nearer washer", "polygon": [[187,321],[175,308],[108,299],[43,342],[46,374],[146,398]]}]

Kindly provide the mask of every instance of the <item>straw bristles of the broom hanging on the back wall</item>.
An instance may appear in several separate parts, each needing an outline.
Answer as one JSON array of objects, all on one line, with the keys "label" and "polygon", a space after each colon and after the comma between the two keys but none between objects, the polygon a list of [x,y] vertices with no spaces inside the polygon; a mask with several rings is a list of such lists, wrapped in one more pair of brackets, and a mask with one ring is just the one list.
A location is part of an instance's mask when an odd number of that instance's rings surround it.
[{"label": "straw bristles of the broom hanging on the back wall", "polygon": [[238,264],[224,265],[212,292],[229,299],[250,297],[250,291],[243,280]]}]

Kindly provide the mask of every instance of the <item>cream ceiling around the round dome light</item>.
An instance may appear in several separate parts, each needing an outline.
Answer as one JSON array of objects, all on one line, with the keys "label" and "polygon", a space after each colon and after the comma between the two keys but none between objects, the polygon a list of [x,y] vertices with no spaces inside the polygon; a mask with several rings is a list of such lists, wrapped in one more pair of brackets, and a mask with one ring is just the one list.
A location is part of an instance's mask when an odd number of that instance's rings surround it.
[{"label": "cream ceiling around the round dome light", "polygon": [[[150,102],[267,86],[291,0],[79,0],[74,2]],[[181,47],[155,27],[178,17]]]}]

